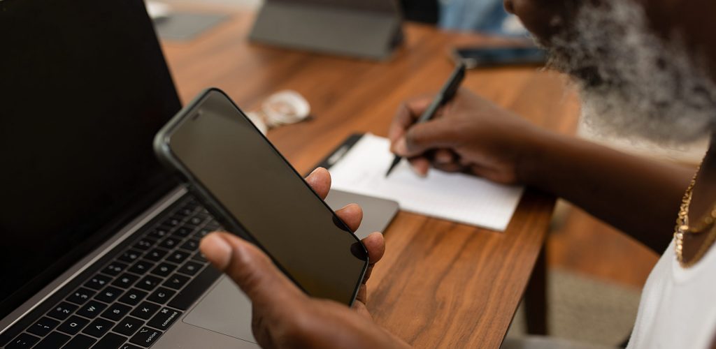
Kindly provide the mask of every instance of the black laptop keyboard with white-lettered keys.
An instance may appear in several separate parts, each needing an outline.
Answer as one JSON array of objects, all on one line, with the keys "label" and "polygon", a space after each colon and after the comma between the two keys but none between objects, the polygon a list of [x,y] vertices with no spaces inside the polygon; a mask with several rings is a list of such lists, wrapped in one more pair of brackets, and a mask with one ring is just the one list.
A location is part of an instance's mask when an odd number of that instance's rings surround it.
[{"label": "black laptop keyboard with white-lettered keys", "polygon": [[5,348],[149,348],[221,275],[198,249],[222,227],[185,201]]}]

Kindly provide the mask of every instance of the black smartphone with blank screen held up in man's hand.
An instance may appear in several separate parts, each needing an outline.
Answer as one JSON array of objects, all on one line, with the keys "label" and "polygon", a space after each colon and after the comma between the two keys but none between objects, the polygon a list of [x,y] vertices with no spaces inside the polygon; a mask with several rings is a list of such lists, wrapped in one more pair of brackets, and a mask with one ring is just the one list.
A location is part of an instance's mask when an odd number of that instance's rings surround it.
[{"label": "black smartphone with blank screen held up in man's hand", "polygon": [[161,162],[304,292],[352,305],[368,253],[236,104],[207,89],[155,137]]}]

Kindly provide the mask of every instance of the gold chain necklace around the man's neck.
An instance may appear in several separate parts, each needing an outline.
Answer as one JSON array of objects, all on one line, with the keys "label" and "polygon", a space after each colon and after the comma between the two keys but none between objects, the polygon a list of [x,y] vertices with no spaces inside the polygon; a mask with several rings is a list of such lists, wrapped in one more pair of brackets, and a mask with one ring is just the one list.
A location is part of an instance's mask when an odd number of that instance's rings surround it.
[{"label": "gold chain necklace around the man's neck", "polygon": [[[676,219],[676,227],[674,229],[674,249],[676,250],[676,258],[682,267],[691,267],[695,265],[709,250],[711,245],[716,241],[716,229],[714,223],[716,222],[716,205],[712,207],[711,211],[698,223],[696,227],[689,227],[689,206],[691,205],[691,198],[696,185],[696,178],[699,174],[699,168],[696,169],[696,174],[691,180],[689,187],[684,193],[684,197],[681,202],[679,209],[679,215]],[[702,232],[710,232],[706,237],[704,243],[699,247],[696,255],[692,260],[684,262],[684,235],[687,233],[700,234]]]}]

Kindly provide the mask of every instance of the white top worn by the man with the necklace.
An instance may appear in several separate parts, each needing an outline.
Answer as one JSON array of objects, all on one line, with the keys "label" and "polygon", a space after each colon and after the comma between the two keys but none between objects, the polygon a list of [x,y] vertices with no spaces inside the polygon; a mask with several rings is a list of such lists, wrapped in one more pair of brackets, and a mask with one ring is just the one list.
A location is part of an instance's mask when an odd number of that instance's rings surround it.
[{"label": "white top worn by the man with the necklace", "polygon": [[674,241],[647,279],[627,349],[708,349],[716,335],[716,245],[692,267]]}]

